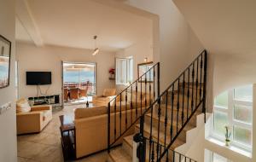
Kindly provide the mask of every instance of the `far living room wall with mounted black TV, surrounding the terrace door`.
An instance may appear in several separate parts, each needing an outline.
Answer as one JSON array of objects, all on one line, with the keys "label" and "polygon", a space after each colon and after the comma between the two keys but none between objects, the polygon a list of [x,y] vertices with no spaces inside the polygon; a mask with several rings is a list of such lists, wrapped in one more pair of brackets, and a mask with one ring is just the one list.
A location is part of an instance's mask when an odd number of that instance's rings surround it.
[{"label": "far living room wall with mounted black TV, surrounding the terrace door", "polygon": [[[113,88],[108,70],[114,67],[114,53],[101,51],[93,56],[92,50],[49,46],[36,47],[31,43],[16,43],[16,60],[19,62],[20,97],[36,96],[36,86],[26,85],[27,71],[52,72],[52,84],[48,95],[61,95],[61,61],[96,62],[96,95],[102,95],[105,88]],[[49,85],[42,85],[44,92]]]}]

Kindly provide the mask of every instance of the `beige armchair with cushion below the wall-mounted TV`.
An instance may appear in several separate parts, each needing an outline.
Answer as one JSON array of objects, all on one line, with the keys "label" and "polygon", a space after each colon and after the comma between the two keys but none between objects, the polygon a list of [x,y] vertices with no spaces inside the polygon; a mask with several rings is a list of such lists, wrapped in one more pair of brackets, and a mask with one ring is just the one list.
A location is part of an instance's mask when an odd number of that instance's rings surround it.
[{"label": "beige armchair with cushion below the wall-mounted TV", "polygon": [[[20,104],[22,102],[22,104]],[[29,107],[25,99],[17,101],[17,134],[38,133],[52,119],[52,107],[49,105]],[[26,111],[22,106],[26,105]],[[21,106],[21,109],[20,109]],[[24,109],[24,108],[23,108]]]}]

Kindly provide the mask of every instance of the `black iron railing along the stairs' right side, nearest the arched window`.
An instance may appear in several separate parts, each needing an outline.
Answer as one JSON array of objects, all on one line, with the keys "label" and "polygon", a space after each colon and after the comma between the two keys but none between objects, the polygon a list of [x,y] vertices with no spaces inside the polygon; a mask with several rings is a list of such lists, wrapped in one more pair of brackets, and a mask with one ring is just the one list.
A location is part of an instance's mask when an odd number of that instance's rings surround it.
[{"label": "black iron railing along the stairs' right side, nearest the arched window", "polygon": [[[204,50],[141,116],[138,133],[141,136],[141,151],[137,152],[140,162],[145,162],[146,159],[150,162],[166,161],[172,144],[177,141],[199,107],[202,107],[206,120],[206,87],[207,51]],[[150,130],[144,135],[145,118],[148,117]],[[148,145],[146,137],[149,139]],[[148,157],[145,157],[146,148]]]}]

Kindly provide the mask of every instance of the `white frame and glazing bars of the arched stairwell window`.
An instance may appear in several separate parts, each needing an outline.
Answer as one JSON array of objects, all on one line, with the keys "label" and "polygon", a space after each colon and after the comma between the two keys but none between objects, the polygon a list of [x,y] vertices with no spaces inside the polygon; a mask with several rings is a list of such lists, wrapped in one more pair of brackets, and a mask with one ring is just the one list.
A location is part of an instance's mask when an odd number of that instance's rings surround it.
[{"label": "white frame and glazing bars of the arched stairwell window", "polygon": [[[245,85],[246,86],[246,85]],[[247,151],[252,152],[252,148],[253,148],[253,120],[252,123],[246,123],[240,120],[235,119],[235,105],[239,105],[239,106],[246,106],[246,107],[252,107],[252,115],[253,115],[253,101],[245,101],[245,100],[238,100],[235,98],[235,89],[231,89],[228,90],[228,107],[220,107],[220,106],[216,106],[214,105],[214,109],[213,109],[213,122],[212,122],[212,136],[224,141],[224,136],[220,136],[215,130],[214,127],[214,112],[220,112],[220,113],[226,113],[228,116],[228,124],[230,125],[230,131],[231,131],[231,145],[237,147],[237,148],[242,148],[245,149]],[[252,85],[252,90],[253,90],[253,85]],[[214,99],[215,100],[215,99]],[[247,145],[245,143],[242,142],[237,142],[234,140],[234,126],[237,127],[241,127],[243,129],[247,129],[251,131],[251,144]]]}]

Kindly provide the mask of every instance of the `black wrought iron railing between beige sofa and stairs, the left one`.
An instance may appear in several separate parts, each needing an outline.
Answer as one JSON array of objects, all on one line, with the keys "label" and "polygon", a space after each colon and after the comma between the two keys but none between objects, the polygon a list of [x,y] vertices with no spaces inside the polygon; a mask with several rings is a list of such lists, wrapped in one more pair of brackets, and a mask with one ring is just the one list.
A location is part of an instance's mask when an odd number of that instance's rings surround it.
[{"label": "black wrought iron railing between beige sofa and stairs, the left one", "polygon": [[129,134],[131,127],[138,122],[146,108],[159,94],[160,63],[158,62],[108,102],[108,153],[122,136]]}]

